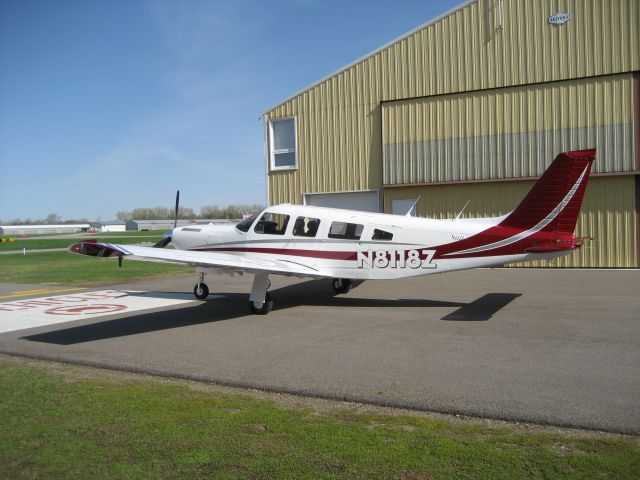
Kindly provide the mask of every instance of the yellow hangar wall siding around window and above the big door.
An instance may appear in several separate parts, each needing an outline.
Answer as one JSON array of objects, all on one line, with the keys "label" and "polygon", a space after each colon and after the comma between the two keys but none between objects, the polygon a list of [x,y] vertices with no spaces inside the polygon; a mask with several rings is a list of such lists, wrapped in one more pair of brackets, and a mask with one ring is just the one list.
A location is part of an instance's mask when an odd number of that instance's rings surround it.
[{"label": "yellow hangar wall siding around window and above the big door", "polygon": [[407,35],[266,113],[299,122],[299,169],[270,173],[269,201],[379,188],[382,101],[640,70],[639,3],[505,0],[500,30],[479,0]]}]

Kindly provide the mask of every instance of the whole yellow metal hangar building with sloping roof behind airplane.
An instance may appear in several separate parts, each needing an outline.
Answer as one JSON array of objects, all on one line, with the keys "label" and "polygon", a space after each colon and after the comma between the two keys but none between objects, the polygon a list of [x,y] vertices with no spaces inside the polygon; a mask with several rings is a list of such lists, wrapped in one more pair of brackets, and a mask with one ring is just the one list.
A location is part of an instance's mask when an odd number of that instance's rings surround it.
[{"label": "whole yellow metal hangar building with sloping roof behind airplane", "polygon": [[269,204],[497,216],[595,147],[553,265],[637,268],[639,32],[638,0],[464,2],[265,112]]}]

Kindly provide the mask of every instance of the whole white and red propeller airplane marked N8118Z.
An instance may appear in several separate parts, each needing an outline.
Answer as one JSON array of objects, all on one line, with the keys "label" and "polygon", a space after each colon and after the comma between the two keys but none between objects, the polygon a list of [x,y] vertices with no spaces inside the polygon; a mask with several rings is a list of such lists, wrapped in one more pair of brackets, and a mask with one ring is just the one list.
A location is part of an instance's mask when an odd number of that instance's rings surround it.
[{"label": "whole white and red propeller airplane marked N8118Z", "polygon": [[[560,153],[511,213],[494,218],[434,220],[353,210],[276,205],[238,224],[177,227],[153,247],[84,241],[71,253],[193,265],[193,291],[204,300],[207,273],[254,275],[253,313],[273,307],[269,275],[332,278],[336,293],[353,280],[415,277],[574,251],[574,234],[595,149]],[[164,249],[170,242],[174,249]]]}]

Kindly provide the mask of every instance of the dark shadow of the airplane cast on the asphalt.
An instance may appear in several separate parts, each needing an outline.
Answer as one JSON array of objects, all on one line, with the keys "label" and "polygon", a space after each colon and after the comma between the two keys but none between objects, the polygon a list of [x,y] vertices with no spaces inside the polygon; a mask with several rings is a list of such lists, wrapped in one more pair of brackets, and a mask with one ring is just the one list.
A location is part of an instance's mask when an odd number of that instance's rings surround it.
[{"label": "dark shadow of the airplane cast on the asphalt", "polygon": [[[357,288],[358,285],[359,283],[354,282],[354,288]],[[247,306],[248,295],[246,293],[213,293],[217,296],[216,298],[197,305],[191,304],[183,308],[112,318],[21,338],[32,342],[74,345],[252,315]],[[458,307],[456,311],[441,319],[449,321],[486,321],[521,295],[518,293],[490,293],[471,303],[422,299],[357,298],[348,295],[335,295],[330,283],[326,280],[297,283],[275,289],[271,293],[275,298],[274,311],[304,305],[344,308]]]}]

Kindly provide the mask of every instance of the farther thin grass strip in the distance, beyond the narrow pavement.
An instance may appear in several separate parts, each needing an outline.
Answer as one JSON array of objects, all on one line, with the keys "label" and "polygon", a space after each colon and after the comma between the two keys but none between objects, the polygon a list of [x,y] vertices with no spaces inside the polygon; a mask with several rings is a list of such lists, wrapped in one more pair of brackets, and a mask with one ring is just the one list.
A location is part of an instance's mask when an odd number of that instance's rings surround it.
[{"label": "farther thin grass strip in the distance, beyond the narrow pavement", "polygon": [[26,248],[27,251],[48,248],[67,248],[69,245],[89,239],[96,239],[99,242],[120,243],[123,245],[130,245],[141,242],[156,243],[163,238],[162,235],[164,234],[164,232],[164,230],[145,232],[109,232],[99,234],[69,235],[65,238],[40,238],[39,236],[31,236],[26,238],[5,237],[14,238],[14,241],[8,243],[0,243],[0,252],[22,250],[23,248]]}]

